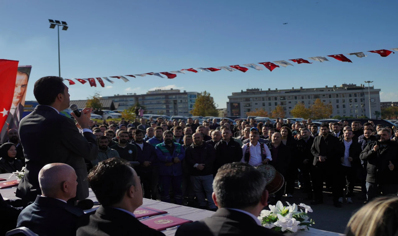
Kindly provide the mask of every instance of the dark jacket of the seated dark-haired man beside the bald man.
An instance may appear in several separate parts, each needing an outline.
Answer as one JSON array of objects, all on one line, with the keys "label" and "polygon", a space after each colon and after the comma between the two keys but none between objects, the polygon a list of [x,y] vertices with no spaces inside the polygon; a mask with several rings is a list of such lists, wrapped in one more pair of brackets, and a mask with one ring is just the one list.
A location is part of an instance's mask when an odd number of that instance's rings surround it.
[{"label": "dark jacket of the seated dark-haired man beside the bald man", "polygon": [[112,207],[100,206],[96,211],[80,217],[77,236],[162,236],[135,217]]}]

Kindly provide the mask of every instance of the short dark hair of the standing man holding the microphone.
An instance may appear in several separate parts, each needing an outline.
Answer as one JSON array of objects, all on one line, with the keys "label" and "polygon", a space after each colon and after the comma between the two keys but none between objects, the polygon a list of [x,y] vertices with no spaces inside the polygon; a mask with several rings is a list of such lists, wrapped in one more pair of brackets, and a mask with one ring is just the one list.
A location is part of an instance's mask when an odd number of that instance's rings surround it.
[{"label": "short dark hair of the standing man holding the microphone", "polygon": [[51,105],[57,99],[57,96],[64,94],[65,85],[62,82],[64,79],[58,76],[41,77],[35,82],[33,87],[33,95],[40,105]]}]

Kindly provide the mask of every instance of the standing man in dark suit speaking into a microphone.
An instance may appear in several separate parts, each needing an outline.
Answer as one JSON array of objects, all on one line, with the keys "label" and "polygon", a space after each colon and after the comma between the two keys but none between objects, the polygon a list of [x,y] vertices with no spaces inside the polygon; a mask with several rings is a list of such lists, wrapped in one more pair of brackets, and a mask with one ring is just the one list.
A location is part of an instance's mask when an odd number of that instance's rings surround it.
[{"label": "standing man in dark suit speaking into a microphone", "polygon": [[88,125],[91,108],[84,108],[80,117],[73,112],[82,133],[74,122],[59,114],[69,107],[68,87],[57,76],[42,77],[36,81],[33,94],[39,105],[20,122],[20,140],[26,160],[23,176],[16,196],[25,202],[35,201],[41,195],[39,171],[50,163],[64,163],[72,166],[77,175],[76,197],[82,200],[88,197],[87,169],[84,159],[97,158],[96,137]]}]

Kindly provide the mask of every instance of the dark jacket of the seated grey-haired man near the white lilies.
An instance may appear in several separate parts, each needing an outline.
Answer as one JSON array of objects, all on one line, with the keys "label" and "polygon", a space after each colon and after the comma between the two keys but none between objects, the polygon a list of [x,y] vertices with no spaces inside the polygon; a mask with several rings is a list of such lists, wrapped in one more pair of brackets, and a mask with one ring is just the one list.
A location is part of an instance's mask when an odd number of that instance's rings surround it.
[{"label": "dark jacket of the seated grey-haired man near the white lilies", "polygon": [[263,235],[279,236],[263,226],[259,226],[256,221],[245,213],[220,208],[211,217],[201,221],[181,225],[176,236],[226,236],[226,235]]}]

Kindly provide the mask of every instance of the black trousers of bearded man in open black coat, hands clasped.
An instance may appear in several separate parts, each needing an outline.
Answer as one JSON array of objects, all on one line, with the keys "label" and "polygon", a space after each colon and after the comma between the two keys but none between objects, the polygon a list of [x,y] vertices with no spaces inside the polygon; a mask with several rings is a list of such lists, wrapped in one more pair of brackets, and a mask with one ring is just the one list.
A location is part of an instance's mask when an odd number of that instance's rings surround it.
[{"label": "black trousers of bearded man in open black coat, hands clasped", "polygon": [[331,180],[333,201],[337,202],[339,199],[339,188],[341,186],[341,178],[338,167],[333,166],[313,166],[311,169],[312,188],[314,190],[314,200],[323,200],[323,186],[324,181]]}]

